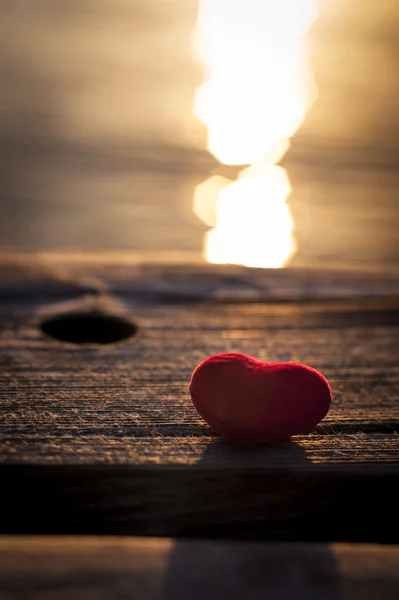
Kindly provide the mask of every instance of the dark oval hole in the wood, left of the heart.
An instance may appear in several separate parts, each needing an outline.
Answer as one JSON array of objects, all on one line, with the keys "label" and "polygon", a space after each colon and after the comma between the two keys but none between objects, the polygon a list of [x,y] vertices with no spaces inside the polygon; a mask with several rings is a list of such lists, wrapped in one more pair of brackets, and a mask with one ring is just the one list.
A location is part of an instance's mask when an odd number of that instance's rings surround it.
[{"label": "dark oval hole in the wood, left of the heart", "polygon": [[113,344],[137,332],[127,319],[101,313],[70,313],[53,317],[41,324],[47,335],[73,344]]}]

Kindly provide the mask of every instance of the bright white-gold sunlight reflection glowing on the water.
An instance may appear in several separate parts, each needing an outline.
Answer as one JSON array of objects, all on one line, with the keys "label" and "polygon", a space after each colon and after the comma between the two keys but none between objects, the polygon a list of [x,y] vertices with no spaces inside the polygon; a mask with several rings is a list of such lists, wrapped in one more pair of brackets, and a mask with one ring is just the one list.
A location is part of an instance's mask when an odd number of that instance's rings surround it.
[{"label": "bright white-gold sunlight reflection glowing on the water", "polygon": [[254,165],[197,188],[194,211],[214,226],[210,262],[279,267],[295,251],[289,183],[273,165],[314,100],[304,38],[315,15],[314,0],[201,1],[196,47],[209,77],[195,114],[220,162]]}]

